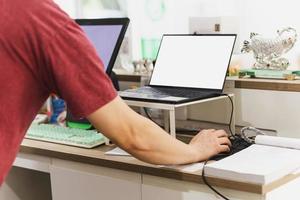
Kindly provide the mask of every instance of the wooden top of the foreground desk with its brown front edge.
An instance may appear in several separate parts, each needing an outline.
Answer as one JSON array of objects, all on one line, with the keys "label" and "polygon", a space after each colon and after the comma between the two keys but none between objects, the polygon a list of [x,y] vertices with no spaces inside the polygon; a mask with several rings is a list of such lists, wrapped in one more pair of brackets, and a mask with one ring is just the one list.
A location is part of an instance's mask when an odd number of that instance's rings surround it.
[{"label": "wooden top of the foreground desk with its brown front edge", "polygon": [[[201,171],[187,173],[175,167],[161,167],[147,164],[129,156],[108,156],[104,154],[112,148],[114,147],[103,145],[95,149],[82,149],[24,139],[20,152],[203,184]],[[208,178],[208,181],[214,186],[266,194],[297,177],[296,175],[289,175],[268,185],[255,185],[218,178]]]}]

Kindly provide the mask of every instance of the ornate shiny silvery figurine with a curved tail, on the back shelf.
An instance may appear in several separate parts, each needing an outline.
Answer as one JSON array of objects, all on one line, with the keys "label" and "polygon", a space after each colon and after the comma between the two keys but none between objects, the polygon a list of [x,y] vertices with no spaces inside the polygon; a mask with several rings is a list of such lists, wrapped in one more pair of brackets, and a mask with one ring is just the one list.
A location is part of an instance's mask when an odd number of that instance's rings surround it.
[{"label": "ornate shiny silvery figurine with a curved tail, on the back shelf", "polygon": [[285,28],[277,31],[275,39],[267,39],[258,33],[251,33],[251,42],[245,40],[242,53],[253,51],[256,63],[254,69],[286,70],[290,65],[288,59],[281,57],[293,48],[297,41],[297,31]]}]

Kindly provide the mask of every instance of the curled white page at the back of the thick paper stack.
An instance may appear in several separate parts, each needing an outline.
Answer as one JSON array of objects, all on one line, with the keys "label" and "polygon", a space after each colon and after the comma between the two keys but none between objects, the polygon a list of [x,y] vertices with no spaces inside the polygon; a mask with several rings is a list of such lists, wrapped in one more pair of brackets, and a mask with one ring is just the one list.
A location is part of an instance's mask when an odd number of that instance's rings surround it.
[{"label": "curled white page at the back of the thick paper stack", "polygon": [[258,135],[255,144],[300,150],[300,139]]}]

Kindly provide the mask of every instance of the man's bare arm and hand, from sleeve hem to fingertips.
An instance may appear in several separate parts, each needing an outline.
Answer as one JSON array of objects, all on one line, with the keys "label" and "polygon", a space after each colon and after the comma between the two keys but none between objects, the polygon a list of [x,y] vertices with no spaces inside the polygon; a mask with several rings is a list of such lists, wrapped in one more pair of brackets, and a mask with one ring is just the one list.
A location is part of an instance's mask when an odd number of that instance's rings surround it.
[{"label": "man's bare arm and hand, from sleeve hem to fingertips", "polygon": [[230,141],[224,131],[205,130],[185,144],[134,112],[120,97],[88,119],[119,147],[152,164],[187,164],[229,151]]}]

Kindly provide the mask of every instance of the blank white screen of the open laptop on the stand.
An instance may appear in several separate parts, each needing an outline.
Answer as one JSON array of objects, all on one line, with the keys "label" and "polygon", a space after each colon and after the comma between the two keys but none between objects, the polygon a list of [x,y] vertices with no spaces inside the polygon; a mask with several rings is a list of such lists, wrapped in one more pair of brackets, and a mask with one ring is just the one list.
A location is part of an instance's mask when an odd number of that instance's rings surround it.
[{"label": "blank white screen of the open laptop on the stand", "polygon": [[150,85],[222,90],[235,35],[165,35]]}]

